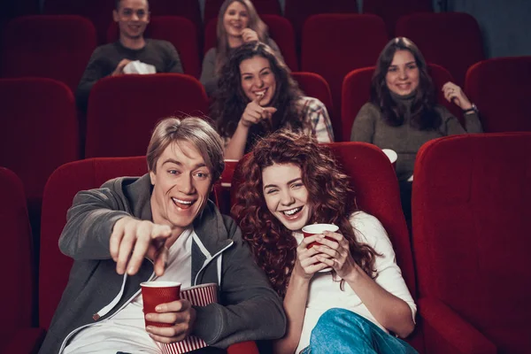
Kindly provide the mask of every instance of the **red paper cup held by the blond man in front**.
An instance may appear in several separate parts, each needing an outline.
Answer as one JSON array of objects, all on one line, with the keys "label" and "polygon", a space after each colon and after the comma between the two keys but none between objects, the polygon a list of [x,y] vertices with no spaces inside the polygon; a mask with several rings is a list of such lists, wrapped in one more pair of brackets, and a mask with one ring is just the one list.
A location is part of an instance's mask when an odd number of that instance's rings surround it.
[{"label": "red paper cup held by the blond man in front", "polygon": [[[156,313],[155,307],[180,300],[181,283],[177,281],[144,281],[142,287],[142,302],[144,315]],[[172,327],[169,323],[152,322],[144,319],[146,327]]]}]

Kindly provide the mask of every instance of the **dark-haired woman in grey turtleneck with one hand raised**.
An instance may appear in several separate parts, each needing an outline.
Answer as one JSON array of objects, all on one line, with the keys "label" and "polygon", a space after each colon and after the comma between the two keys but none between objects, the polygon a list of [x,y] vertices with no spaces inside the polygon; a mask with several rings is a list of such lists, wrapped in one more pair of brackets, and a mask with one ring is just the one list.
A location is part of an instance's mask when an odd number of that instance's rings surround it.
[{"label": "dark-haired woman in grey turtleneck with one hand raised", "polygon": [[463,90],[447,82],[443,92],[463,110],[466,128],[443,105],[436,104],[435,87],[417,46],[404,37],[391,40],[378,58],[371,102],[359,110],[350,140],[395,150],[398,180],[411,179],[422,144],[441,136],[482,131],[477,109]]}]

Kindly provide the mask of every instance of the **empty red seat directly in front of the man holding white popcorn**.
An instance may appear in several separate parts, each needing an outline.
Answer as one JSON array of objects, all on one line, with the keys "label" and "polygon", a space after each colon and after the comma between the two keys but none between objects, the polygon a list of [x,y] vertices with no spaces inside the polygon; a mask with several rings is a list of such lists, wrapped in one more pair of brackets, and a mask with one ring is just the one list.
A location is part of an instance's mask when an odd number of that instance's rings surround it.
[{"label": "empty red seat directly in front of the man holding white popcorn", "polygon": [[158,120],[208,112],[203,85],[180,73],[122,75],[97,81],[89,96],[85,157],[146,152]]}]

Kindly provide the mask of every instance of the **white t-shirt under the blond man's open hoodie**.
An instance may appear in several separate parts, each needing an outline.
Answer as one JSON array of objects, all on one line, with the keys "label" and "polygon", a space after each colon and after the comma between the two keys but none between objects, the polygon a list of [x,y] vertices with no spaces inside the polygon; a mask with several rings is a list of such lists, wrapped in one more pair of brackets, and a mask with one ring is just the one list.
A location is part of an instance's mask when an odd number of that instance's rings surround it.
[{"label": "white t-shirt under the blond man's open hoodie", "polygon": [[[169,249],[168,266],[165,273],[155,281],[180,281],[181,289],[190,287],[192,272],[192,237],[194,229],[189,228]],[[74,335],[63,353],[65,354],[116,354],[117,351],[131,353],[160,354],[158,343],[145,330],[140,290],[133,300],[109,319],[83,328]]]}]

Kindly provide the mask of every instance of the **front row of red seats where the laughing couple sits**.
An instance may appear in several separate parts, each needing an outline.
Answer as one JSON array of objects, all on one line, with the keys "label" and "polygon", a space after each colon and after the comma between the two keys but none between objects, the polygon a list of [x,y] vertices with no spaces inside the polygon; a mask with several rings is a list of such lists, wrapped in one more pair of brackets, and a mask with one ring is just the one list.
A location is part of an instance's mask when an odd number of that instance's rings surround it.
[{"label": "front row of red seats where the laughing couple sits", "polygon": [[[420,353],[524,353],[531,345],[531,268],[526,236],[531,218],[531,133],[458,135],[427,142],[419,150],[412,194],[412,242],[396,175],[389,159],[371,144],[329,144],[357,191],[358,206],[381,220],[396,261],[419,305],[417,329],[408,342]],[[30,352],[58,304],[72,259],[58,250],[58,236],[75,193],[121,175],[146,172],[144,157],[91,158],[59,167],[46,185],[42,208],[39,329],[28,321],[31,262],[23,190],[0,169],[0,216],[11,230],[12,291],[4,291],[4,322],[16,352]],[[12,183],[8,183],[12,181]],[[233,191],[241,183],[236,165]],[[412,243],[412,244],[411,244]],[[8,279],[9,281],[9,279]],[[12,298],[14,294],[18,297]],[[16,335],[18,334],[18,335]],[[18,342],[17,342],[18,341]],[[38,345],[38,343],[37,343]],[[239,352],[256,352],[251,342]],[[15,352],[2,351],[0,352]],[[231,351],[229,349],[229,352]]]}]

